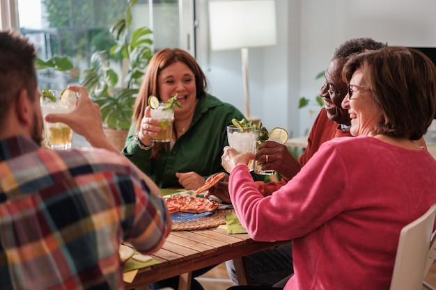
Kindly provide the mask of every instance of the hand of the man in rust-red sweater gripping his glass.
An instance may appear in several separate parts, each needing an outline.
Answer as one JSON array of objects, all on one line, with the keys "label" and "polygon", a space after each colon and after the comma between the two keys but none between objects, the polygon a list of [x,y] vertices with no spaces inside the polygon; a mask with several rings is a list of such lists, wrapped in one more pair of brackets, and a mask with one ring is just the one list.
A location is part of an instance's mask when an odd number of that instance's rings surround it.
[{"label": "hand of the man in rust-red sweater gripping his glass", "polygon": [[302,168],[286,145],[272,141],[259,144],[255,162],[262,170],[276,170],[286,179],[292,179]]}]

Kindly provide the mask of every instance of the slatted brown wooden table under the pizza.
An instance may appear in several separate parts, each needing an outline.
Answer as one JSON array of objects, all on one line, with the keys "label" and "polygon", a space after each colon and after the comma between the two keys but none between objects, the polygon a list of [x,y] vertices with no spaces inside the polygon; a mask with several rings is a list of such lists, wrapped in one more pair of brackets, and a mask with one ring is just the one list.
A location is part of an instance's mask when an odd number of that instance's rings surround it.
[{"label": "slatted brown wooden table under the pizza", "polygon": [[248,234],[227,234],[221,227],[171,232],[162,248],[152,255],[161,263],[139,269],[133,282],[125,283],[125,289],[143,288],[150,282],[178,275],[178,289],[190,289],[192,271],[230,259],[235,261],[238,282],[249,284],[241,257],[284,243],[289,241],[256,242]]}]

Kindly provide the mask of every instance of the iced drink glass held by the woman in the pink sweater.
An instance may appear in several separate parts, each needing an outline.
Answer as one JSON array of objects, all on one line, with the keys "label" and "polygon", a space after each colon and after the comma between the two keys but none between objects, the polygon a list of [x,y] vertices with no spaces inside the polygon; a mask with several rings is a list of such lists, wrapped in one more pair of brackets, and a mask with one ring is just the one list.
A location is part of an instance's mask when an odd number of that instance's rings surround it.
[{"label": "iced drink glass held by the woman in the pink sweater", "polygon": [[[227,126],[228,145],[236,151],[256,153],[258,130],[254,127],[238,128],[234,125]],[[250,171],[254,170],[254,159],[247,164]]]}]

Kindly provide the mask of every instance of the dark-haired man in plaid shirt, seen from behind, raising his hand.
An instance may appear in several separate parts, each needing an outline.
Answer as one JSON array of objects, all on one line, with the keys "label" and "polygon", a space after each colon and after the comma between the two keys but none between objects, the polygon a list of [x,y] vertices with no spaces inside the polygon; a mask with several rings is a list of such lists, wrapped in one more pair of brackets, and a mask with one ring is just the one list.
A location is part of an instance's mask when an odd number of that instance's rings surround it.
[{"label": "dark-haired man in plaid shirt, seen from behind, raising his hand", "polygon": [[[86,89],[49,115],[94,147],[40,147],[35,49],[0,32],[0,289],[124,289],[120,241],[158,250],[171,230],[159,189],[105,138]],[[109,150],[104,150],[109,149]]]}]

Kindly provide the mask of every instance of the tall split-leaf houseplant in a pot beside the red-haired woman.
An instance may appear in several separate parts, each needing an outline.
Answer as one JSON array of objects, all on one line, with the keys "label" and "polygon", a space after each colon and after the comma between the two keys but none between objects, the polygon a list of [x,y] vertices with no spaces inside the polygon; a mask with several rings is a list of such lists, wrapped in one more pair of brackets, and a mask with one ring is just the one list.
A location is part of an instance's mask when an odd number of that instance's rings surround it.
[{"label": "tall split-leaf houseplant in a pot beside the red-haired woman", "polygon": [[[138,88],[153,56],[150,29],[141,27],[129,35],[132,23],[130,9],[136,2],[137,0],[130,1],[123,19],[119,19],[109,29],[116,45],[111,47],[109,54],[107,51],[96,51],[91,56],[90,67],[82,72],[80,78],[81,86],[86,87],[93,101],[100,106],[105,133],[109,139],[115,139],[112,143],[119,149],[124,145]],[[117,58],[122,58],[121,63],[127,65],[127,75],[123,79],[118,77],[114,69],[119,63]]]}]

